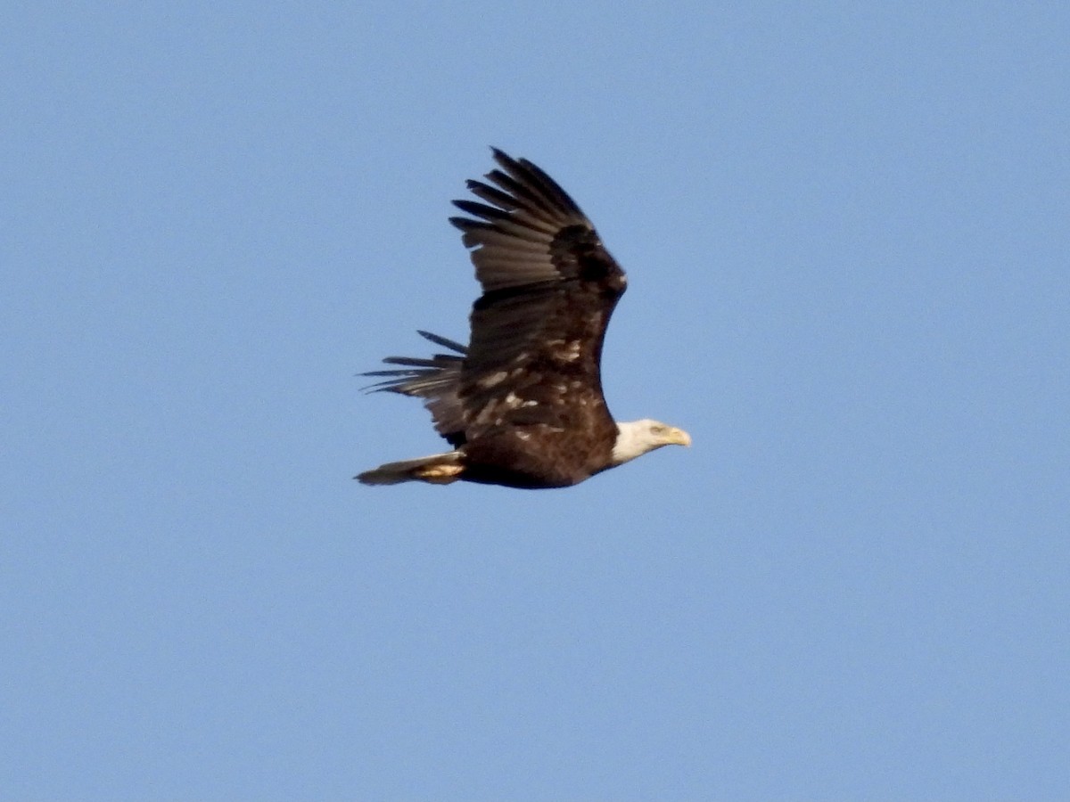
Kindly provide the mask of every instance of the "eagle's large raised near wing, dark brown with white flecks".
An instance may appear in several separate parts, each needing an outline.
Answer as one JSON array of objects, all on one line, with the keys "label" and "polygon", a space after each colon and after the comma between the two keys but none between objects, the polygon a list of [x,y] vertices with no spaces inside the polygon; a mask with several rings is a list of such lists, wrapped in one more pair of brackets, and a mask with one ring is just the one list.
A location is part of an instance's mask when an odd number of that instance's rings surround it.
[{"label": "eagle's large raised near wing, dark brown with white flecks", "polygon": [[450,218],[483,286],[458,383],[467,437],[540,423],[612,442],[600,360],[624,271],[553,179],[493,155],[501,169],[468,182],[483,202],[455,201],[470,216]]}]

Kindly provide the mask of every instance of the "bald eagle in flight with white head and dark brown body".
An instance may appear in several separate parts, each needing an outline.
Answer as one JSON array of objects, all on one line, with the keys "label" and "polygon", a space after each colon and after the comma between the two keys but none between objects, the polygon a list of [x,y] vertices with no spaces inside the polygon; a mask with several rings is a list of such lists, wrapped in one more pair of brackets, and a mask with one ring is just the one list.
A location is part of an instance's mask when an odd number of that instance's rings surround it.
[{"label": "bald eagle in flight with white head and dark brown body", "polygon": [[365,484],[457,480],[564,488],[661,446],[690,445],[656,420],[617,422],[602,397],[606,326],[624,294],[624,271],[557,183],[528,159],[493,150],[484,202],[457,200],[449,221],[471,249],[483,295],[469,344],[421,331],[446,353],[391,356],[398,369],[371,389],[424,400],[452,450],[391,462],[355,477]]}]

